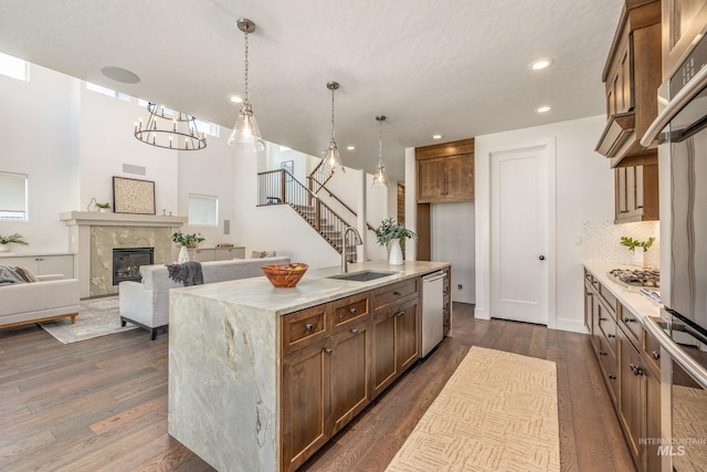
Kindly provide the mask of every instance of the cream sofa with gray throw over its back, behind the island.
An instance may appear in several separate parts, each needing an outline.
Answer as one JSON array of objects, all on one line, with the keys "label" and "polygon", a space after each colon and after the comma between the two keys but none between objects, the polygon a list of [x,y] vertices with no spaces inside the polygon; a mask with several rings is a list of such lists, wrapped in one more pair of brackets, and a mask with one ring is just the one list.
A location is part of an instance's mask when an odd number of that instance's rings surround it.
[{"label": "cream sofa with gray throw over its back, behind the island", "polygon": [[[203,283],[262,276],[261,268],[288,264],[289,258],[232,259],[202,262]],[[127,322],[151,332],[152,340],[169,324],[169,290],[183,286],[169,277],[166,265],[143,265],[141,282],[120,282],[118,286],[120,323]]]}]

